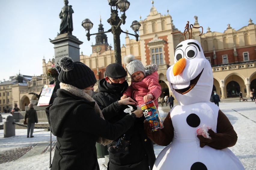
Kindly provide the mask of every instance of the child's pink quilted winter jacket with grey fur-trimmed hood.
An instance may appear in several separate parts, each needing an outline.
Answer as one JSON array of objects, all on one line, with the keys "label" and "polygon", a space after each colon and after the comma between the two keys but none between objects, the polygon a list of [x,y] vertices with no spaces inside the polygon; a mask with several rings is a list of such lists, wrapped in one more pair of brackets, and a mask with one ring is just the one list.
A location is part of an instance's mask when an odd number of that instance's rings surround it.
[{"label": "child's pink quilted winter jacket with grey fur-trimmed hood", "polygon": [[158,66],[157,64],[151,64],[145,66],[146,76],[142,81],[136,82],[132,81],[131,85],[126,89],[123,95],[128,95],[128,97],[136,100],[141,106],[144,104],[143,97],[145,95],[153,95],[152,100],[155,102],[156,107],[158,108],[157,98],[161,95],[161,86],[158,83]]}]

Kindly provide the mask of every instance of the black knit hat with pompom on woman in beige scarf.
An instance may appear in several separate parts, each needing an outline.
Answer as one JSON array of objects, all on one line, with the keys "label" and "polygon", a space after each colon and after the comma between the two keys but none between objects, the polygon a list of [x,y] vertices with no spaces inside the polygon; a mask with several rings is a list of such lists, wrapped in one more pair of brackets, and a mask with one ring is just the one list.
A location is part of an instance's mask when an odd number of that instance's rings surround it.
[{"label": "black knit hat with pompom on woman in beige scarf", "polygon": [[84,89],[97,82],[93,71],[84,63],[73,61],[70,57],[59,60],[61,71],[58,79],[60,82],[70,84],[78,89]]}]

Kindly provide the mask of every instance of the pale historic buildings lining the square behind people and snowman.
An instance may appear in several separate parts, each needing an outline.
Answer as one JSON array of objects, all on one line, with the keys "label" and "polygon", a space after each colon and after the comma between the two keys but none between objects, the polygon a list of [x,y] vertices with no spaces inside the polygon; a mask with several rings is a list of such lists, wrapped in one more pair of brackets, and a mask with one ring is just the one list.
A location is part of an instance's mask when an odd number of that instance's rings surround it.
[{"label": "pale historic buildings lining the square behind people and snowman", "polygon": [[[197,16],[194,18],[193,25],[200,27]],[[121,46],[122,62],[124,56],[133,54],[143,65],[157,63],[159,84],[162,87],[161,96],[172,95],[166,71],[174,64],[175,48],[185,40],[184,36],[171,34],[179,31],[172,22],[172,16],[169,13],[161,15],[154,6],[151,7],[147,18],[139,22],[139,41],[130,39],[126,34],[125,44]],[[104,32],[101,22],[98,31]],[[193,28],[191,38],[201,43],[204,55],[211,63],[214,78],[212,92],[216,91],[223,99],[238,97],[242,91],[243,97],[249,98],[250,90],[256,89],[256,25],[249,19],[248,25],[237,31],[227,25],[223,33],[212,32],[210,28],[201,36],[200,33],[201,29]],[[115,62],[114,49],[108,44],[107,35],[98,34],[95,45],[92,45],[92,53],[87,56],[81,51],[80,61],[93,70],[98,82],[105,78],[106,66]],[[3,108],[12,108],[14,104],[24,110],[29,102],[36,100],[36,95],[29,93],[39,94],[44,84],[50,84],[47,70],[53,64],[54,59],[48,62],[43,59],[43,74],[32,76],[31,80],[26,82],[27,86],[18,84],[17,80],[16,83],[0,83],[0,112],[3,112]],[[122,65],[125,68],[125,64]],[[129,74],[127,81],[130,84]],[[98,90],[97,83],[95,90]]]}]

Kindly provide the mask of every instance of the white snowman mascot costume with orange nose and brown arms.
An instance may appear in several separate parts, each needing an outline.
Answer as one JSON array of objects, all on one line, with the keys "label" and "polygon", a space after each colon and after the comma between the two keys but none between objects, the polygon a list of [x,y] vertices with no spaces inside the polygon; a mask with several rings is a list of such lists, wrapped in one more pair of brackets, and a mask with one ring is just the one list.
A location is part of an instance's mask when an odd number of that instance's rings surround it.
[{"label": "white snowman mascot costume with orange nose and brown arms", "polygon": [[[184,37],[185,34],[184,31]],[[179,43],[174,60],[166,77],[179,105],[170,110],[163,129],[151,132],[148,122],[144,124],[148,137],[166,146],[158,155],[153,170],[244,169],[228,149],[237,141],[233,126],[220,108],[209,102],[212,67],[200,43],[192,39]]]}]

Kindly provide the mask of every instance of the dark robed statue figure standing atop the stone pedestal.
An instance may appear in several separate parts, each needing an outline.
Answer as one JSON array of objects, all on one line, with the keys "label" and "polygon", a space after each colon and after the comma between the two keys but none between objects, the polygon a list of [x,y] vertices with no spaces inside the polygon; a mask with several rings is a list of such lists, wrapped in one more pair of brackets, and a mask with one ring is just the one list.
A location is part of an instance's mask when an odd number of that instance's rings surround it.
[{"label": "dark robed statue figure standing atop the stone pedestal", "polygon": [[61,19],[60,22],[60,28],[59,34],[63,33],[70,33],[72,34],[73,31],[73,20],[72,20],[72,13],[74,13],[72,6],[68,5],[69,1],[64,0],[65,6],[61,9],[61,12],[59,13],[59,18]]}]

